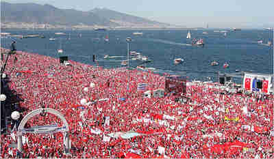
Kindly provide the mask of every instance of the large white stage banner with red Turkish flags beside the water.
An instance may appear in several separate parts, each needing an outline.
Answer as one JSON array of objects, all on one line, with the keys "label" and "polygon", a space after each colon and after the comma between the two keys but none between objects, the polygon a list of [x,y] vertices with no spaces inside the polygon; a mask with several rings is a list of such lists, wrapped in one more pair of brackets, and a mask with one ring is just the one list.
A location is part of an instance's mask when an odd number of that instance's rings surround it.
[{"label": "large white stage banner with red Turkish flags beside the water", "polygon": [[247,91],[261,91],[264,93],[269,93],[271,87],[271,75],[245,72],[243,87]]}]

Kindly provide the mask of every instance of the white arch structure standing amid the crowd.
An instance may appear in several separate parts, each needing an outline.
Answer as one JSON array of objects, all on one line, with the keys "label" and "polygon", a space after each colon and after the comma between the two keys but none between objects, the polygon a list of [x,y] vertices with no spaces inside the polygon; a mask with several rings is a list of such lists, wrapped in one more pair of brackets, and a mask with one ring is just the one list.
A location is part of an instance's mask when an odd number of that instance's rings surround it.
[{"label": "white arch structure standing amid the crowd", "polygon": [[[25,117],[22,119],[21,123],[18,126],[18,131],[17,131],[17,148],[18,151],[22,152],[23,151],[23,142],[22,142],[22,136],[23,133],[28,133],[28,131],[26,131],[27,129],[25,129],[25,124],[27,123],[27,121],[29,119],[32,119],[32,117],[34,117],[34,115],[40,115],[40,113],[51,113],[53,115],[56,115],[57,117],[59,117],[62,121],[64,126],[62,127],[53,127],[53,128],[32,128],[32,132],[40,134],[40,133],[54,133],[54,132],[64,132],[64,146],[65,146],[65,153],[69,154],[69,124],[68,122],[66,122],[66,119],[64,118],[64,116],[56,111],[55,109],[49,109],[49,108],[45,108],[45,109],[35,109],[34,111],[29,112],[27,115],[25,115]],[[57,130],[57,131],[56,131]]]}]

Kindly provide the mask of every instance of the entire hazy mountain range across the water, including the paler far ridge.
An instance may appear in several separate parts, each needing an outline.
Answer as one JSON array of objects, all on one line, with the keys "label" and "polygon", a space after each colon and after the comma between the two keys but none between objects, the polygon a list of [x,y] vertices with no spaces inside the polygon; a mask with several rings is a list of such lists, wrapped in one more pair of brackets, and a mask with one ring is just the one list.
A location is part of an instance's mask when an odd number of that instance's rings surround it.
[{"label": "entire hazy mountain range across the water, including the paler far ridge", "polygon": [[59,9],[48,4],[7,3],[1,1],[2,23],[36,23],[66,27],[75,25],[132,28],[171,27],[171,25],[166,23],[108,10],[107,8],[95,8],[88,12],[82,12],[73,9]]}]

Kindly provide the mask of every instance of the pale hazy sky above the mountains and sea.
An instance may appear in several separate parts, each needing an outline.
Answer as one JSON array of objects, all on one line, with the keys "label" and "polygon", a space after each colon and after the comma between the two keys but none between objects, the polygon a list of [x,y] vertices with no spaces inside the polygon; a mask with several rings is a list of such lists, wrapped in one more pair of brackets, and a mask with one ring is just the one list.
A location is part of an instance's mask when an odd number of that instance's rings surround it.
[{"label": "pale hazy sky above the mountains and sea", "polygon": [[[2,1],[2,0],[1,0]],[[4,0],[12,3],[49,3],[57,8],[88,11],[108,8],[134,16],[186,27],[274,26],[274,0]]]}]

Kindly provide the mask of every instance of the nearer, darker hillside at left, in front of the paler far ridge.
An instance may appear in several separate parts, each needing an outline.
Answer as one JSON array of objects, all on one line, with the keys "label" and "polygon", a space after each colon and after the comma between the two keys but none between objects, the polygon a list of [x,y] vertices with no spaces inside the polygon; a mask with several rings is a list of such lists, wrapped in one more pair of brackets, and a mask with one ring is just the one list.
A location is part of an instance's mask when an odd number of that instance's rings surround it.
[{"label": "nearer, darker hillside at left, in front of the paler far ridge", "polygon": [[52,5],[1,2],[1,22],[44,23],[51,25],[115,25],[91,12],[60,10]]}]

